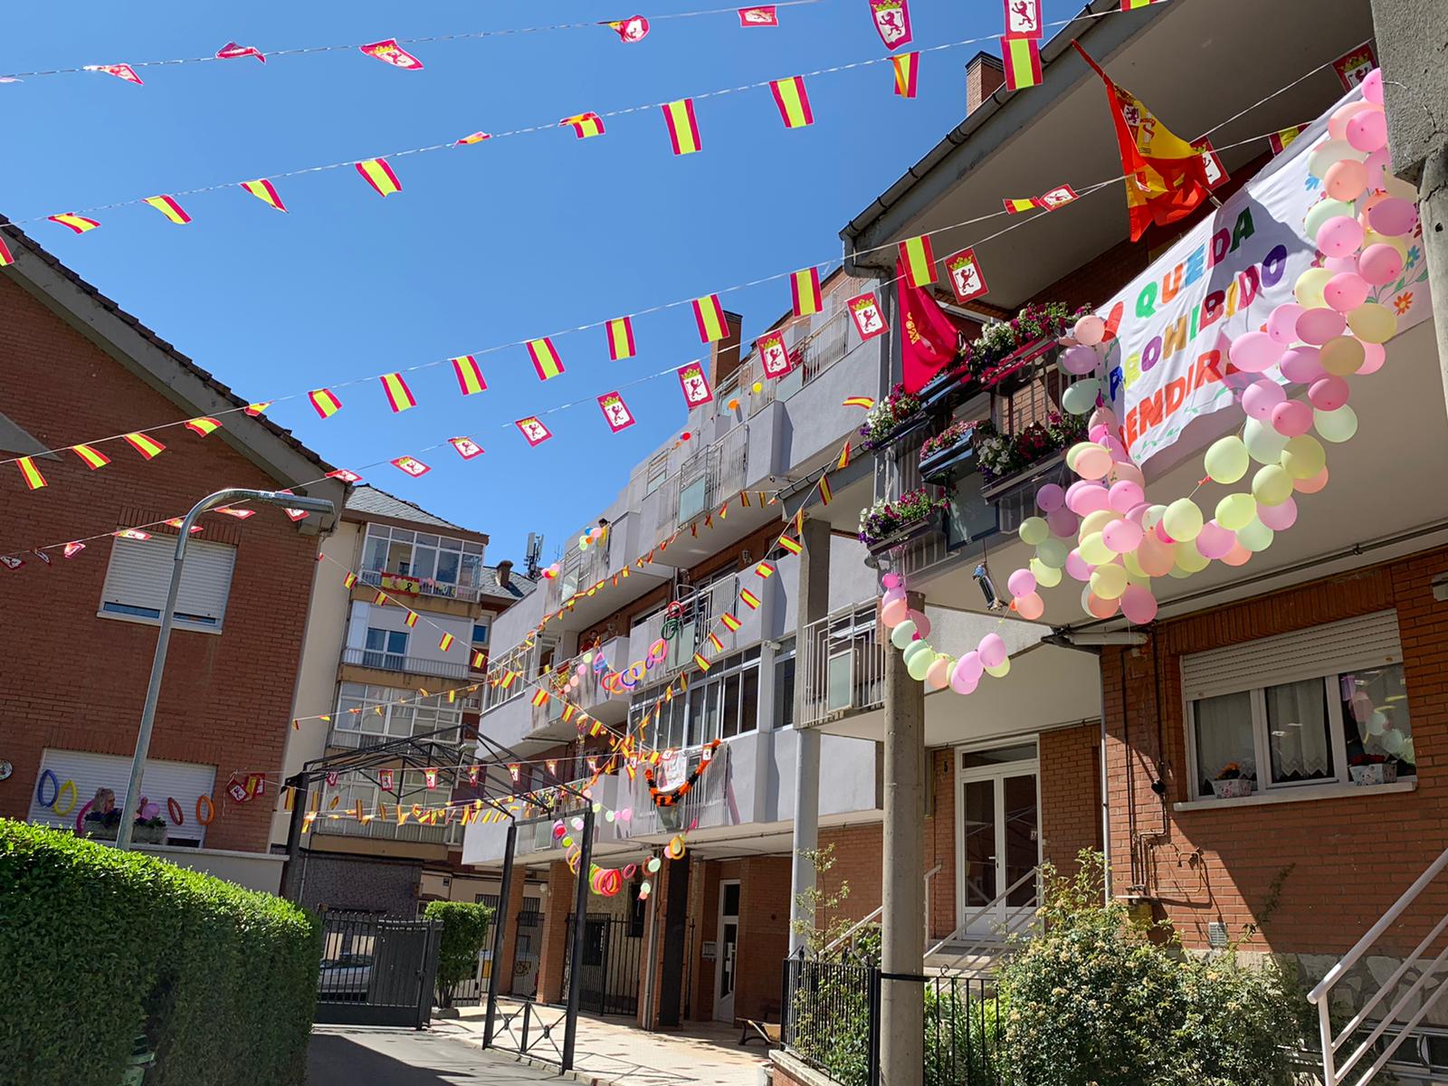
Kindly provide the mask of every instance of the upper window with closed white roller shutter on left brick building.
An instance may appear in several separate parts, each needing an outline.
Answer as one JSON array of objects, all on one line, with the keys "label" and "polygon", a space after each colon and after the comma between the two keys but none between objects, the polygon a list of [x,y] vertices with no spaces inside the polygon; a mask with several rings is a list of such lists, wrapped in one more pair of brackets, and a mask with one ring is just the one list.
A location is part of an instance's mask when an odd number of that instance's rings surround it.
[{"label": "upper window with closed white roller shutter on left brick building", "polygon": [[[161,621],[161,608],[171,588],[175,539],[117,539],[100,595],[100,614],[110,618]],[[232,591],[236,547],[226,543],[187,542],[177,595],[175,621],[190,630],[220,630],[226,598]]]}]

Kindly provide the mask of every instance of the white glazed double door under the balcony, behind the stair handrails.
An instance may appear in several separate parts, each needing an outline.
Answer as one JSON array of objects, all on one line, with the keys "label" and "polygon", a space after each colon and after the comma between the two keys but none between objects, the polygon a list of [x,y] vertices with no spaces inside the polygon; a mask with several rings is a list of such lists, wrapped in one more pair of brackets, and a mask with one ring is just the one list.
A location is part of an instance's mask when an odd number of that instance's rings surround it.
[{"label": "white glazed double door under the balcony, behind the stair handrails", "polygon": [[956,922],[992,935],[1035,908],[1041,863],[1035,740],[956,752]]}]

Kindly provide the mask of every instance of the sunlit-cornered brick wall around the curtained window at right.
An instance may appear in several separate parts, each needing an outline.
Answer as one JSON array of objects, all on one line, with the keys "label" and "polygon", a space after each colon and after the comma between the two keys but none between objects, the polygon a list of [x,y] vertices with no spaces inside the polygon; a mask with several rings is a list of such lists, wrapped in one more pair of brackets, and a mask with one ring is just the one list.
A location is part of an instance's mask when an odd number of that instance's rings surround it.
[{"label": "sunlit-cornered brick wall around the curtained window at right", "polygon": [[[1448,840],[1448,604],[1431,581],[1448,549],[1161,623],[1103,656],[1114,889],[1156,902],[1189,946],[1211,921],[1261,924],[1279,953],[1347,951]],[[1189,799],[1180,657],[1355,615],[1397,611],[1418,788],[1342,799],[1174,811]],[[1150,782],[1167,785],[1157,799]],[[1274,889],[1274,883],[1280,883]],[[1276,906],[1267,909],[1276,899]],[[1435,886],[1380,944],[1403,953],[1448,912]],[[1266,919],[1264,919],[1264,914]]]}]

